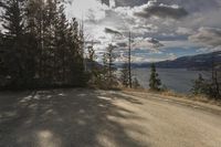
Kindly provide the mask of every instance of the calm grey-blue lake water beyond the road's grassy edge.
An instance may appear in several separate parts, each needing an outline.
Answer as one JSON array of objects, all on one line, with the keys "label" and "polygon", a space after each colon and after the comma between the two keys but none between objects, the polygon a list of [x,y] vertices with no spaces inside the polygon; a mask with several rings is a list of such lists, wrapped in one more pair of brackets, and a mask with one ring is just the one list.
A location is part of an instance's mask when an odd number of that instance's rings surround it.
[{"label": "calm grey-blue lake water beyond the road's grassy edge", "polygon": [[[186,69],[157,69],[162,85],[178,93],[190,93],[192,81],[198,78],[199,73],[204,78],[210,77],[206,71],[188,71]],[[137,77],[140,85],[145,88],[149,86],[150,69],[133,69],[133,75]]]}]

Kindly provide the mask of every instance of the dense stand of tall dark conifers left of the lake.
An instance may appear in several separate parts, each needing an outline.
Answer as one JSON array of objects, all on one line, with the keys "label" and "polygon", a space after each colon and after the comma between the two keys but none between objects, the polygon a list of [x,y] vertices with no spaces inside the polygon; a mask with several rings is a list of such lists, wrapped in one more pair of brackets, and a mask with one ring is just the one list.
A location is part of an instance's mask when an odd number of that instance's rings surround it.
[{"label": "dense stand of tall dark conifers left of the lake", "polygon": [[1,8],[4,86],[85,85],[83,35],[62,0],[6,0]]}]

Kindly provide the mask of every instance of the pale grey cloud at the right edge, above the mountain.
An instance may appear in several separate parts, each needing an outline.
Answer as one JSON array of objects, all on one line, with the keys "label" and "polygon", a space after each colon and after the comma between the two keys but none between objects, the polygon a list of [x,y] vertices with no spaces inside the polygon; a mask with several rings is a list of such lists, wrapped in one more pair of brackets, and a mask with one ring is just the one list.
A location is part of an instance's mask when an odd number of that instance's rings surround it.
[{"label": "pale grey cloud at the right edge, above the mountain", "polygon": [[221,46],[221,29],[200,28],[196,34],[189,36],[189,40],[211,48]]}]

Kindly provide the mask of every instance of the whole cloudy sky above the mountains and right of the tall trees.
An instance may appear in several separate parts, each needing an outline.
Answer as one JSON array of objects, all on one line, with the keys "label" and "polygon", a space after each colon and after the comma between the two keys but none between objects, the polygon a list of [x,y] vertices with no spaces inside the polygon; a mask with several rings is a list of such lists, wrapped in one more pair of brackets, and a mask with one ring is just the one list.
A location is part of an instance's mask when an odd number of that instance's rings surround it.
[{"label": "whole cloudy sky above the mountains and right of the tall trees", "polygon": [[221,0],[71,0],[66,13],[84,21],[97,61],[112,43],[124,62],[129,31],[135,63],[221,51]]}]

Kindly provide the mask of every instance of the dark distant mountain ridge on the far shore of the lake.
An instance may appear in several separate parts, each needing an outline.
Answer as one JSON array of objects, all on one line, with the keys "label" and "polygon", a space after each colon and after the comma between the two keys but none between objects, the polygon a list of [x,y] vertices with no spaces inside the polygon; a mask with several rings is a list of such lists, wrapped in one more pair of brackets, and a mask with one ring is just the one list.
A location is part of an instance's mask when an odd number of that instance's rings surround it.
[{"label": "dark distant mountain ridge on the far shore of the lake", "polygon": [[[221,69],[221,51],[198,54],[192,56],[182,56],[173,61],[162,61],[155,63],[161,69],[188,69],[188,70],[210,70],[212,63],[217,69]],[[150,63],[133,64],[133,67],[149,67]]]}]

